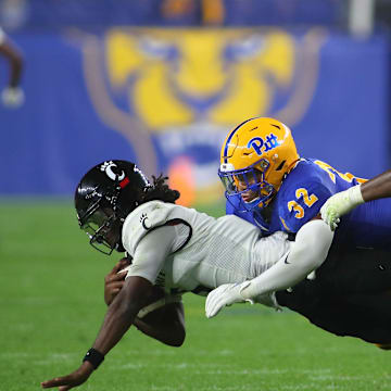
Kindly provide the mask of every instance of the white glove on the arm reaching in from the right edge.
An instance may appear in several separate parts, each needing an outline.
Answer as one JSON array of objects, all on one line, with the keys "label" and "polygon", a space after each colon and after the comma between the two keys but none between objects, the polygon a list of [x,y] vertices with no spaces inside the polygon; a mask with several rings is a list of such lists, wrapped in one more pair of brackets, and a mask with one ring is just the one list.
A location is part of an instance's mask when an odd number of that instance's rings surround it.
[{"label": "white glove on the arm reaching in from the right edge", "polygon": [[320,215],[331,230],[340,223],[340,217],[364,203],[360,185],[331,195],[320,209]]}]

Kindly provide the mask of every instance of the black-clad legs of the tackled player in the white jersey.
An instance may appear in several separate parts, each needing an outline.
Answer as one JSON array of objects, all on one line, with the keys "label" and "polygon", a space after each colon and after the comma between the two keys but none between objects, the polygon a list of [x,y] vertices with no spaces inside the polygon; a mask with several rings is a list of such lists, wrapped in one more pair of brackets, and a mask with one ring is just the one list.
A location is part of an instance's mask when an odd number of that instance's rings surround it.
[{"label": "black-clad legs of the tackled player in the white jersey", "polygon": [[382,251],[336,250],[292,292],[277,292],[281,306],[337,336],[391,342],[391,261]]}]

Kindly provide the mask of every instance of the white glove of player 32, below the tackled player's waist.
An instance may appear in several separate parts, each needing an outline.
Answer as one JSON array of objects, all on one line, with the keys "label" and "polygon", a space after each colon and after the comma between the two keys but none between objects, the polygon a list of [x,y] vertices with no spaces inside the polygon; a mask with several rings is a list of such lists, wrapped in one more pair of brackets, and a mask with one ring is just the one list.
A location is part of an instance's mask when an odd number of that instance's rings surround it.
[{"label": "white glove of player 32, below the tackled player's waist", "polygon": [[254,302],[250,299],[244,299],[240,292],[245,288],[250,281],[241,283],[224,283],[218,288],[214,289],[207,294],[205,303],[205,314],[207,318],[216,316],[223,307],[231,305],[234,303]]}]

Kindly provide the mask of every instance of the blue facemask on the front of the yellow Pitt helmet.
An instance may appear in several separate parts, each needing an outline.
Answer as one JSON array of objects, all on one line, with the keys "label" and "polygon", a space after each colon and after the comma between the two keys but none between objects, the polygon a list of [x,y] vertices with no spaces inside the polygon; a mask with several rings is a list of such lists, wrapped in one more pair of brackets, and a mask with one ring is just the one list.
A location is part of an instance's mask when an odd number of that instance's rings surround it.
[{"label": "blue facemask on the front of the yellow Pitt helmet", "polygon": [[227,200],[231,202],[232,197],[240,197],[243,201],[242,209],[239,207],[241,212],[251,212],[255,207],[266,206],[276,193],[273,185],[265,180],[269,166],[269,162],[265,159],[242,169],[229,169],[228,164],[222,164],[218,176],[226,189]]}]

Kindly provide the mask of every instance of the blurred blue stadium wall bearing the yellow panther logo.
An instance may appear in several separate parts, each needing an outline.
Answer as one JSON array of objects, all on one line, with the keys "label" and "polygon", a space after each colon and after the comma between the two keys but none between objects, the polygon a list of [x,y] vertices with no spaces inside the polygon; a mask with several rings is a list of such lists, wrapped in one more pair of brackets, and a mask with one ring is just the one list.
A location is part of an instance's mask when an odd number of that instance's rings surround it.
[{"label": "blurred blue stadium wall bearing the yellow panther logo", "polygon": [[[341,172],[390,166],[386,36],[113,27],[12,38],[26,103],[0,106],[0,194],[71,194],[90,166],[127,159],[169,174],[185,203],[212,202],[219,146],[253,116],[286,122],[302,156]],[[7,72],[1,61],[0,86]]]}]

